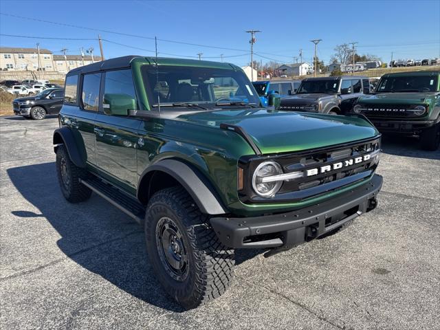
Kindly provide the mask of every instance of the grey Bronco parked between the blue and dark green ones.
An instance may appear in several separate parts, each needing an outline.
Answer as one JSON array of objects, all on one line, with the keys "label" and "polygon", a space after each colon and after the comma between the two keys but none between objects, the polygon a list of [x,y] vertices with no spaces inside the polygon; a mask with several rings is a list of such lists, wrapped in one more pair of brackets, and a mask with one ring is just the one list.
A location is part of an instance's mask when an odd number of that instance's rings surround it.
[{"label": "grey Bronco parked between the blue and dark green ones", "polygon": [[281,99],[279,109],[341,115],[369,92],[369,78],[365,76],[305,78],[294,96]]}]

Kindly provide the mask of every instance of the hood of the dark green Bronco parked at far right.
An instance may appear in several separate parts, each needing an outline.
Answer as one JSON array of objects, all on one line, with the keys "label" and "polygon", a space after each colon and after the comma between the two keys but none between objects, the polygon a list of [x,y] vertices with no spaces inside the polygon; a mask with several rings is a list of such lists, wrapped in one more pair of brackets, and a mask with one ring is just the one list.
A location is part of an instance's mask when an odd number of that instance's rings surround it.
[{"label": "hood of the dark green Bronco parked at far right", "polygon": [[358,103],[366,104],[423,104],[427,99],[433,98],[436,95],[434,92],[420,92],[420,93],[380,93],[363,96],[358,100]]}]

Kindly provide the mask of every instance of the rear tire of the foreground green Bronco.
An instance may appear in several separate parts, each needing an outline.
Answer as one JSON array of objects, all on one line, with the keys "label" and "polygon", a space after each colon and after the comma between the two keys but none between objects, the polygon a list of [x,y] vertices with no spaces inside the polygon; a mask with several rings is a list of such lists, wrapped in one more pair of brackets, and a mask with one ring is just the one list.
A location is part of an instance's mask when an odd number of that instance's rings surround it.
[{"label": "rear tire of the foreground green Bronco", "polygon": [[[64,172],[64,174],[63,174]],[[70,160],[69,153],[64,145],[58,146],[56,150],[56,174],[63,196],[70,203],[86,201],[91,195],[91,190],[80,183],[80,178],[87,177],[87,171],[76,166]],[[65,177],[67,175],[67,177]],[[65,184],[65,179],[69,184]]]}]

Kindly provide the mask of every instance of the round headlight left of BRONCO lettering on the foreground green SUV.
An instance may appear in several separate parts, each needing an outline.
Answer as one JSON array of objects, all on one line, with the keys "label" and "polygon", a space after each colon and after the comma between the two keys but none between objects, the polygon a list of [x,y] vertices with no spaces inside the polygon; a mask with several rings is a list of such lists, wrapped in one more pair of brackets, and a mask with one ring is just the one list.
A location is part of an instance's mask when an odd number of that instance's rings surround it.
[{"label": "round headlight left of BRONCO lettering on the foreground green SUV", "polygon": [[263,182],[263,178],[280,174],[283,174],[280,164],[276,162],[263,162],[256,167],[254,175],[252,175],[252,188],[261,197],[272,197],[281,188],[283,182]]}]

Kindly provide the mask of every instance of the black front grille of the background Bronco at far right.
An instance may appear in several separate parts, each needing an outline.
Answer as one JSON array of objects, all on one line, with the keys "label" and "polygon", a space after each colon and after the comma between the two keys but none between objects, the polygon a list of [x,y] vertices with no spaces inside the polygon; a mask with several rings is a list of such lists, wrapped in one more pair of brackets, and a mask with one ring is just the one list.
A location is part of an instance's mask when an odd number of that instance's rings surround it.
[{"label": "black front grille of the background Bronco at far right", "polygon": [[[419,105],[419,104],[417,104]],[[371,118],[418,118],[426,114],[415,114],[414,104],[360,104],[362,107],[362,114]]]}]

